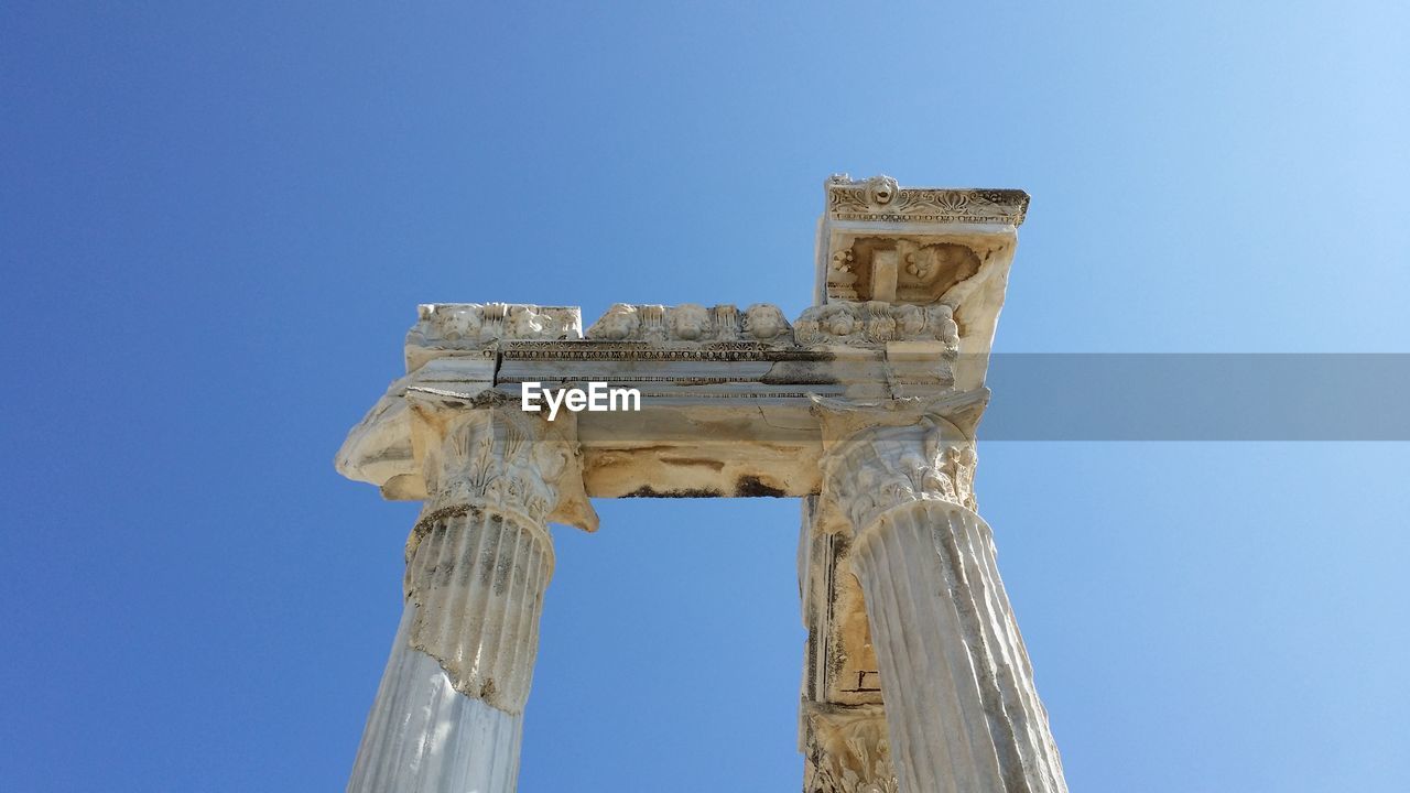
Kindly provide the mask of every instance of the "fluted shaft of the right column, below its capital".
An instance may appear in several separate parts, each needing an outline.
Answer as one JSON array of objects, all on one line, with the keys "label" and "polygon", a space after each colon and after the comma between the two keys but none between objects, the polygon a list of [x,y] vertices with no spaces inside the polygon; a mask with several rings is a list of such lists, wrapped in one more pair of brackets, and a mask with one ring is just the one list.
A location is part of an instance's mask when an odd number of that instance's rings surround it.
[{"label": "fluted shaft of the right column, below its capital", "polygon": [[853,545],[901,786],[1067,793],[993,532],[973,511],[911,501]]}]

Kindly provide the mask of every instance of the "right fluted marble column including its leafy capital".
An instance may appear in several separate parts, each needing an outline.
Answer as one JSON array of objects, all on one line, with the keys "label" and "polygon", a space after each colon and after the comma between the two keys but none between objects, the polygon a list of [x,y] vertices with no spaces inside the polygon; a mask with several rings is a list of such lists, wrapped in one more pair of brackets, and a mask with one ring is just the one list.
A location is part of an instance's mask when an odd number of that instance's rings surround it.
[{"label": "right fluted marble column including its leafy capital", "polygon": [[876,411],[832,425],[823,491],[854,532],[901,793],[1065,793],[974,512],[973,444],[939,416]]}]

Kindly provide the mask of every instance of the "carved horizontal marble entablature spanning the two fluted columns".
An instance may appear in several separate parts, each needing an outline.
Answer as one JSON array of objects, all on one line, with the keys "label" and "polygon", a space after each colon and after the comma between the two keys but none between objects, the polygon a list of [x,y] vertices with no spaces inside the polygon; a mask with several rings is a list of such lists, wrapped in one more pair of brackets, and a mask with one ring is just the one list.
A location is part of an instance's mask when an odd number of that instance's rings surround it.
[{"label": "carved horizontal marble entablature spanning the two fluted columns", "polygon": [[[811,463],[821,453],[818,399],[987,396],[981,385],[960,388],[983,382],[987,358],[960,353],[964,339],[945,303],[833,302],[794,322],[767,303],[744,312],[619,303],[585,339],[572,332],[577,316],[563,306],[422,306],[407,334],[409,374],[348,436],[338,470],[389,498],[422,500],[429,491],[410,443],[409,396],[471,405],[515,399],[523,382],[605,382],[637,388],[642,413],[581,416],[589,495],[807,495],[821,481]],[[726,429],[704,437],[691,429],[706,423]],[[747,461],[759,454],[766,460]],[[791,461],[768,461],[774,456]],[[684,459],[692,463],[673,463]]]}]

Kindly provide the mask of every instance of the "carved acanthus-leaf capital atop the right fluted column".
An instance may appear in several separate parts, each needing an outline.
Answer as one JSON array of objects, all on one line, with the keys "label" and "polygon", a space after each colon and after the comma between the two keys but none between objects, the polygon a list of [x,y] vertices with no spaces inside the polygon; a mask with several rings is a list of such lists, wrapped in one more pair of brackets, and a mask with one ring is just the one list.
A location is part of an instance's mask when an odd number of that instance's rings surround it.
[{"label": "carved acanthus-leaf capital atop the right fluted column", "polygon": [[974,444],[939,416],[869,428],[832,444],[822,461],[823,491],[854,531],[911,501],[974,509]]}]

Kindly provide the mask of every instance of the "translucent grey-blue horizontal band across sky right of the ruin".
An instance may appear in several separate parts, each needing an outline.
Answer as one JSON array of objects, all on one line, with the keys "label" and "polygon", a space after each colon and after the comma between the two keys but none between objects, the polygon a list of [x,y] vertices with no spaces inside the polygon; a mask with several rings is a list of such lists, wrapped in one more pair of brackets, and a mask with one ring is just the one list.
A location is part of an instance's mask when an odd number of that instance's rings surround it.
[{"label": "translucent grey-blue horizontal band across sky right of the ruin", "polygon": [[1410,354],[1004,353],[980,440],[1410,440]]}]

